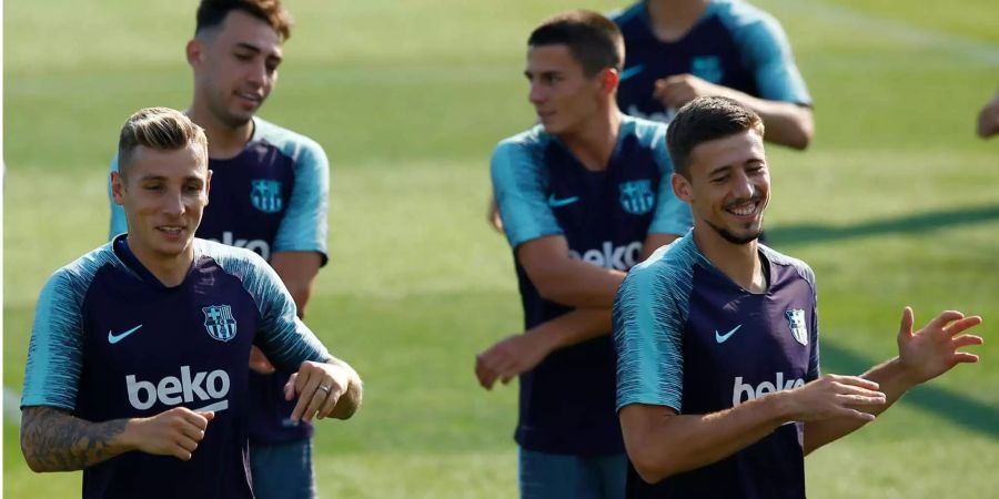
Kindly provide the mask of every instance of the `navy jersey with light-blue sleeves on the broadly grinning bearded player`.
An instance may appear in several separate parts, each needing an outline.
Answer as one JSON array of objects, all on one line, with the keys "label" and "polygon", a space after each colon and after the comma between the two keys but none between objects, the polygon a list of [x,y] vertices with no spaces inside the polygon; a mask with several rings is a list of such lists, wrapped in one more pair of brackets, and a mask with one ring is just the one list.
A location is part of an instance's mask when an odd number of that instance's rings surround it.
[{"label": "navy jersey with light-blue sleeves on the broadly grinning bearded player", "polygon": [[[819,376],[815,276],[759,246],[766,293],[736,285],[692,234],[635,266],[614,304],[617,407],[704,415]],[[628,498],[804,498],[804,424],[788,422],[713,465],[656,483],[628,475]],[[678,449],[677,451],[683,451]]]}]

